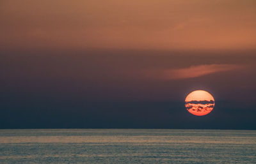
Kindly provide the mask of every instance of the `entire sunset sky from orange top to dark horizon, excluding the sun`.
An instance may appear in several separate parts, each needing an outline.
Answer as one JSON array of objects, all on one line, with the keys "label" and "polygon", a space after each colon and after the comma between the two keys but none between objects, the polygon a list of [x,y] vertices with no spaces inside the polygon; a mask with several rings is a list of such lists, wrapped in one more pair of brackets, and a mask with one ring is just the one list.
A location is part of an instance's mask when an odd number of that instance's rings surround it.
[{"label": "entire sunset sky from orange top to dark horizon, excluding the sun", "polygon": [[0,128],[256,130],[255,19],[254,0],[0,1]]}]

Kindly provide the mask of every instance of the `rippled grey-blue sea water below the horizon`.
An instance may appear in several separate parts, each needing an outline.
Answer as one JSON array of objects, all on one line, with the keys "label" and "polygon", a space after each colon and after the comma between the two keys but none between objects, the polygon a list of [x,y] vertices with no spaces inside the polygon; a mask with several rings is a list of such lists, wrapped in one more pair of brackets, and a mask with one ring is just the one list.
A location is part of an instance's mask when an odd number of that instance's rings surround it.
[{"label": "rippled grey-blue sea water below the horizon", "polygon": [[256,131],[0,130],[0,163],[256,163]]}]

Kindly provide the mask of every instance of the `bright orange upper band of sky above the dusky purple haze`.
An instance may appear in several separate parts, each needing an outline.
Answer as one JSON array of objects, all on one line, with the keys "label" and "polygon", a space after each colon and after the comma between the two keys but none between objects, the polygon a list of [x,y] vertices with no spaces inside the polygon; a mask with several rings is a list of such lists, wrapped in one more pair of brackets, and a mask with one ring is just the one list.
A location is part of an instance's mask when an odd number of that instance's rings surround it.
[{"label": "bright orange upper band of sky above the dusky purple haze", "polygon": [[1,48],[252,49],[255,0],[0,2]]}]

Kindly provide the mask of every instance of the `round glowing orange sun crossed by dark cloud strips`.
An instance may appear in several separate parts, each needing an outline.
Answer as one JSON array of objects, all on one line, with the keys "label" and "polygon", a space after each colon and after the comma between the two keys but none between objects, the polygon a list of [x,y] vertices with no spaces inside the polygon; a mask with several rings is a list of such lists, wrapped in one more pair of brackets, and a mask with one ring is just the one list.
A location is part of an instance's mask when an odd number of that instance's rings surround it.
[{"label": "round glowing orange sun crossed by dark cloud strips", "polygon": [[196,116],[209,114],[214,108],[214,104],[212,95],[203,90],[193,91],[185,99],[185,107],[188,112]]}]

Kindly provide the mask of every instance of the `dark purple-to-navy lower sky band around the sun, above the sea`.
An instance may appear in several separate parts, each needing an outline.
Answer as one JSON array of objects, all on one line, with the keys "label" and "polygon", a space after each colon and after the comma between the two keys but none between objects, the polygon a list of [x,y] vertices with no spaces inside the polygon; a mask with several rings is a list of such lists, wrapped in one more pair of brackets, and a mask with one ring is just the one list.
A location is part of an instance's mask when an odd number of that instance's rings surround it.
[{"label": "dark purple-to-navy lower sky band around the sun, above the sea", "polygon": [[[4,52],[0,128],[256,129],[255,63],[253,50]],[[241,67],[192,78],[148,76],[211,64]],[[214,96],[207,116],[184,107],[195,89]]]}]

